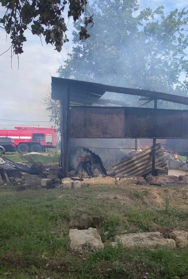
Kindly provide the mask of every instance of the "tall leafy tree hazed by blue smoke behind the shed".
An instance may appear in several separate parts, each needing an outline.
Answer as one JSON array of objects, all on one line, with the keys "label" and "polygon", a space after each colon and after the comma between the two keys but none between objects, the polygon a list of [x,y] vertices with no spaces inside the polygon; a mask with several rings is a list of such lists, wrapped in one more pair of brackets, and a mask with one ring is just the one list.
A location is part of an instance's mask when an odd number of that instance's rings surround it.
[{"label": "tall leafy tree hazed by blue smoke behind the shed", "polygon": [[[74,47],[59,76],[187,94],[188,83],[180,77],[188,74],[188,11],[176,9],[165,16],[164,6],[138,13],[136,0],[104,2],[96,0],[89,8],[96,21],[89,40],[79,41],[80,20],[74,24]],[[133,100],[128,95],[122,98]]]}]

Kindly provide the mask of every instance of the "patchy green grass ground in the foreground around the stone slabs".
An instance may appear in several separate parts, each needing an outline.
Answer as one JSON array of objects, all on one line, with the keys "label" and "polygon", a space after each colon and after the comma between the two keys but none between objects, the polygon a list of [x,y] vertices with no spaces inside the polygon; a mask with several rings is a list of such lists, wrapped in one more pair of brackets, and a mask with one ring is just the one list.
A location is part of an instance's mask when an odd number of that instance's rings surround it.
[{"label": "patchy green grass ground in the foreground around the stone slabs", "polygon": [[[0,278],[188,278],[186,249],[113,248],[116,234],[188,229],[188,188],[122,185],[77,190],[0,188]],[[82,215],[102,217],[105,249],[69,252]],[[105,231],[109,231],[106,236]],[[144,277],[145,276],[145,277]]]}]

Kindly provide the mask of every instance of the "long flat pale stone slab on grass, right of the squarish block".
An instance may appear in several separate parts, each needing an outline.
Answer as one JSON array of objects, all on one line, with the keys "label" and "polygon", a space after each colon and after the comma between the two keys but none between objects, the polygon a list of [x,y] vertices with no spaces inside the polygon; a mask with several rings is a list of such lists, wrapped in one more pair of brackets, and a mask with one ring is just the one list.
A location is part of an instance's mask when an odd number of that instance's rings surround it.
[{"label": "long flat pale stone slab on grass, right of the squarish block", "polygon": [[160,232],[144,232],[139,234],[124,234],[116,236],[112,246],[122,243],[126,247],[139,246],[143,248],[155,248],[156,246],[176,247],[173,239],[163,238]]}]

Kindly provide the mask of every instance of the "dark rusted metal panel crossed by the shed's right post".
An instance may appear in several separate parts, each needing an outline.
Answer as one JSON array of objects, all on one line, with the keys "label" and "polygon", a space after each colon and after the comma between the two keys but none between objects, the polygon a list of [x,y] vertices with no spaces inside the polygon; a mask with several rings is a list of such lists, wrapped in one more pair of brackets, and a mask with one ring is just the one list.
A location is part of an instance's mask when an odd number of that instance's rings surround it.
[{"label": "dark rusted metal panel crossed by the shed's right post", "polygon": [[[157,109],[155,111],[152,108],[125,108],[125,114],[125,138],[182,137],[182,111],[180,110]],[[156,133],[154,132],[155,121]]]}]

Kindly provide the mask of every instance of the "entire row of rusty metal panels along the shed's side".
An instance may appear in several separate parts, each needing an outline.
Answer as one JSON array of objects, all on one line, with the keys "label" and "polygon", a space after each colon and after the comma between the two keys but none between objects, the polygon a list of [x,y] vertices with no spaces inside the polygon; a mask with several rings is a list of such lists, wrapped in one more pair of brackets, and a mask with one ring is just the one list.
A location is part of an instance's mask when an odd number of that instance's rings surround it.
[{"label": "entire row of rusty metal panels along the shed's side", "polygon": [[188,138],[188,111],[131,107],[72,107],[69,113],[68,137]]}]

